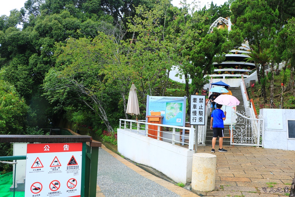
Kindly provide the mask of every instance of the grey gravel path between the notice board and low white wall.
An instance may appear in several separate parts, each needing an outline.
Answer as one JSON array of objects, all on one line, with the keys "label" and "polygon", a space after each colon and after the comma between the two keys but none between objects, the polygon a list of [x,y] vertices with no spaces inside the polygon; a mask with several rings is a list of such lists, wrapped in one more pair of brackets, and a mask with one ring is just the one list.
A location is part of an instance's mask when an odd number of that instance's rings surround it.
[{"label": "grey gravel path between the notice board and low white wall", "polygon": [[99,149],[97,185],[106,197],[180,197]]}]

